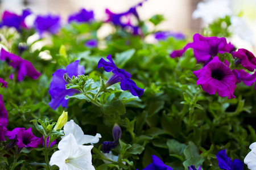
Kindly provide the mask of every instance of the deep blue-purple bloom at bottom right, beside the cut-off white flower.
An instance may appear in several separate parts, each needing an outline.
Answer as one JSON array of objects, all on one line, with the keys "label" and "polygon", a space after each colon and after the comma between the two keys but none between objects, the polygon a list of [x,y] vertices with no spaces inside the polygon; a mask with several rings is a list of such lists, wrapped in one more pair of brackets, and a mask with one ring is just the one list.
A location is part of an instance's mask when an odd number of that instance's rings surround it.
[{"label": "deep blue-purple bloom at bottom right, beside the cut-off white flower", "polygon": [[221,169],[228,169],[228,170],[242,170],[243,169],[243,162],[239,159],[232,159],[228,158],[226,155],[226,150],[221,150],[216,155],[218,160],[218,167]]}]

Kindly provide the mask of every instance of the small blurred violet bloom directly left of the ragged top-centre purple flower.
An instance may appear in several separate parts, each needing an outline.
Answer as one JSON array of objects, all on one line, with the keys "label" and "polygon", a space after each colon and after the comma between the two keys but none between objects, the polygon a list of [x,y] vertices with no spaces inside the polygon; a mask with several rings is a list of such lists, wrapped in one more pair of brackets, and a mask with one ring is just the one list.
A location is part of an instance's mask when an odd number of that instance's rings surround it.
[{"label": "small blurred violet bloom directly left of the ragged top-centre purple flower", "polygon": [[86,11],[81,9],[79,12],[72,14],[68,17],[68,23],[77,22],[77,23],[88,23],[94,20],[93,11]]}]

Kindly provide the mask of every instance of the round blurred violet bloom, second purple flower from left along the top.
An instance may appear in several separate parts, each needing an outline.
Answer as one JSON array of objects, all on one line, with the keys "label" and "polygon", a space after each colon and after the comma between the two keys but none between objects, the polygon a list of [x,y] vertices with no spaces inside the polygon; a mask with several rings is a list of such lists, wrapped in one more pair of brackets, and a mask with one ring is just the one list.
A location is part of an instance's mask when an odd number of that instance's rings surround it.
[{"label": "round blurred violet bloom, second purple flower from left along the top", "polygon": [[61,28],[60,16],[58,15],[39,15],[35,19],[35,29],[39,32],[40,36],[44,32],[56,34]]}]

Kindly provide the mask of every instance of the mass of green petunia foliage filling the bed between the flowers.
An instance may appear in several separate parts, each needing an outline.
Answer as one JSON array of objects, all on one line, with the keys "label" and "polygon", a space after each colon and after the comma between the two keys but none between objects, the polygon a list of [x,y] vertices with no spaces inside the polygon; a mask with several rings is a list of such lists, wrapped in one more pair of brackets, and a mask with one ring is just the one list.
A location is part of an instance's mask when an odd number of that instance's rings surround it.
[{"label": "mass of green petunia foliage filling the bed between the flowers", "polygon": [[[157,15],[150,22],[158,25],[162,20],[163,16]],[[229,24],[228,21],[220,20],[209,29],[216,36],[219,33],[229,36],[226,29],[219,27],[223,22]],[[34,33],[33,30],[24,29],[21,33],[5,28],[0,30],[1,44],[15,54],[19,54],[20,43],[26,44],[27,49],[19,56],[32,62],[42,73],[37,80],[26,78],[17,82],[9,79],[14,70],[0,61],[0,77],[8,82],[8,88],[0,88],[9,113],[8,129],[30,128],[30,121],[34,119],[57,120],[64,108],[54,111],[48,106],[52,73],[79,59],[80,65],[85,66],[86,75],[74,76],[67,89],[73,88],[81,93],[65,98],[70,99],[67,108],[69,120],[77,122],[85,134],[102,135],[92,150],[96,169],[143,169],[152,162],[151,155],[158,156],[177,170],[187,169],[190,165],[218,169],[214,155],[224,148],[232,159],[245,158],[250,143],[256,141],[256,117],[250,114],[256,109],[253,87],[241,83],[234,93],[235,99],[207,94],[196,86],[197,79],[192,71],[199,70],[201,65],[196,63],[192,50],[181,58],[169,56],[172,50],[182,48],[186,40],[168,37],[156,44],[147,43],[144,36],[154,32],[148,32],[143,22],[141,36],[130,35],[116,27],[114,33],[98,40],[101,48],[84,46],[86,40],[97,39],[97,30],[104,24],[71,23],[61,28],[57,35],[32,44],[27,44],[27,38]],[[36,44],[46,41],[50,43],[36,48]],[[39,57],[42,53],[51,58]],[[108,54],[112,54],[117,67],[131,74],[138,87],[144,88],[140,99],[122,91],[118,84],[105,89],[104,83],[111,73],[97,69],[97,63]],[[119,156],[117,162],[106,159],[101,149],[103,141],[113,141],[115,123],[122,129],[119,146],[112,150]],[[42,127],[38,125],[36,129],[40,131]],[[33,132],[42,136],[35,129]],[[27,150],[23,152],[28,153]],[[18,164],[19,168],[29,169],[27,167],[44,162],[44,156],[37,155],[36,150],[29,152],[22,157],[20,163],[23,164]],[[0,163],[11,164],[11,161],[5,157]]]}]

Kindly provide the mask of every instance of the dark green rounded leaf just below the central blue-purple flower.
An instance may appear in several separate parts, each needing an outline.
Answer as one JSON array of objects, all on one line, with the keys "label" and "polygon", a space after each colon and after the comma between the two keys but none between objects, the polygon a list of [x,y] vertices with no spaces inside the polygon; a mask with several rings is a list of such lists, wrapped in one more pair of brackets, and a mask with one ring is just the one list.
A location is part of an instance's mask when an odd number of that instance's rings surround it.
[{"label": "dark green rounded leaf just below the central blue-purple flower", "polygon": [[101,111],[104,114],[108,114],[108,115],[115,114],[115,113],[121,115],[121,114],[125,114],[126,109],[122,101],[115,99],[110,101],[110,103],[104,104],[103,107],[101,108]]}]

